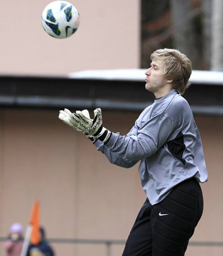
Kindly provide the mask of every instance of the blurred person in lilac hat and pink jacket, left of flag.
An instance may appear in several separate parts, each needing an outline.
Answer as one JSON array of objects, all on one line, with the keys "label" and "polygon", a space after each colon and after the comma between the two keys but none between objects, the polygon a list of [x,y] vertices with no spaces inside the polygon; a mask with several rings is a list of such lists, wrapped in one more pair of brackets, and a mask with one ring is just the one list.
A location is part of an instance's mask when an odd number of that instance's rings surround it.
[{"label": "blurred person in lilac hat and pink jacket, left of flag", "polygon": [[7,256],[20,256],[23,245],[23,228],[19,223],[12,224],[8,239],[4,243]]}]

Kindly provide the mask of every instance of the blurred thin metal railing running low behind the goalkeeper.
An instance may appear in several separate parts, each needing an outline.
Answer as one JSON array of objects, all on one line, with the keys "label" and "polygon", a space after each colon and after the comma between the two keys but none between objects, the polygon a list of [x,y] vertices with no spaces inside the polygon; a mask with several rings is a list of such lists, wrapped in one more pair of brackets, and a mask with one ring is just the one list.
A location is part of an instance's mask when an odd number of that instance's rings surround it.
[{"label": "blurred thin metal railing running low behind the goalkeeper", "polygon": [[[0,237],[0,242],[5,241],[6,237]],[[113,244],[125,244],[125,240],[106,240],[106,239],[72,239],[72,238],[49,238],[47,239],[51,243],[58,244],[104,244],[107,248],[106,256],[111,256],[111,245]],[[210,242],[210,241],[191,241],[188,246],[210,246],[210,247],[222,247],[223,242]]]}]

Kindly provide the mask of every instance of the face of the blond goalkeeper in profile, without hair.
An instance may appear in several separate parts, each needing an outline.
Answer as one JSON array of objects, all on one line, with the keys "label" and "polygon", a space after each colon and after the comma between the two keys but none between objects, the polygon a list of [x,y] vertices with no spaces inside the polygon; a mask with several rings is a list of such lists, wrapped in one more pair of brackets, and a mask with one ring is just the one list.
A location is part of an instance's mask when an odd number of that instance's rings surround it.
[{"label": "face of the blond goalkeeper in profile, without hair", "polygon": [[145,72],[145,88],[150,92],[159,92],[167,85],[167,78],[164,76],[162,64],[158,60],[153,60],[151,67]]}]

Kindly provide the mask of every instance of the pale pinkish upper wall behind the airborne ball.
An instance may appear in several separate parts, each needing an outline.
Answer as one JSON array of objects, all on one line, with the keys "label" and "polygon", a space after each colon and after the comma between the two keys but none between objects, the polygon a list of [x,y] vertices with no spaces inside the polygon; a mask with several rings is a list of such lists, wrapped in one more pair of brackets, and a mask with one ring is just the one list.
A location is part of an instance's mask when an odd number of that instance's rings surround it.
[{"label": "pale pinkish upper wall behind the airborne ball", "polygon": [[0,74],[67,75],[85,69],[139,68],[139,0],[70,2],[80,26],[66,39],[41,25],[50,0],[1,1]]}]

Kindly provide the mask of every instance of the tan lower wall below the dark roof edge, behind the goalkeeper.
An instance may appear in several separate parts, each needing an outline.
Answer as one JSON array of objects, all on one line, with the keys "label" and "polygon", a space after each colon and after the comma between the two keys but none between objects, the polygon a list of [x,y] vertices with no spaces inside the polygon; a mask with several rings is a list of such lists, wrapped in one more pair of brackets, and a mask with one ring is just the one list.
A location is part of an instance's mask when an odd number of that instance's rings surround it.
[{"label": "tan lower wall below the dark roof edge, behind the goalkeeper", "polygon": [[[125,134],[139,113],[102,114],[105,127]],[[0,236],[7,235],[13,222],[26,227],[33,201],[39,199],[41,224],[50,238],[125,240],[145,200],[138,164],[130,169],[110,164],[85,135],[57,116],[57,110],[0,110]],[[204,213],[192,240],[222,241],[223,118],[195,120],[209,181],[202,184]],[[52,245],[57,255],[106,255],[103,245]],[[111,249],[111,256],[121,255],[123,245]],[[221,255],[222,248],[189,246],[186,255],[198,252]]]}]

